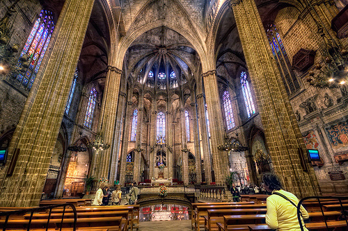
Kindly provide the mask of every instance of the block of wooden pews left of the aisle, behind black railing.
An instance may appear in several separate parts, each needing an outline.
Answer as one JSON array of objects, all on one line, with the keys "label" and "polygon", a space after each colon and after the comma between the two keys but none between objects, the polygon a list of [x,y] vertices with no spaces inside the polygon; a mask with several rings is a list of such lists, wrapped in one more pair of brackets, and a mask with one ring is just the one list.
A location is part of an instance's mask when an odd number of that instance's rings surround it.
[{"label": "block of wooden pews left of the aisle, behind black railing", "polygon": [[[1,211],[6,207],[0,207]],[[22,208],[9,208],[8,211]],[[125,206],[95,206],[77,207],[77,230],[117,230],[125,231],[130,228],[139,229],[139,205]],[[22,215],[10,216],[6,221],[5,216],[1,216],[0,228],[6,230],[73,230],[74,213],[71,207],[57,207],[45,209],[42,212],[26,213]],[[48,225],[48,226],[47,226]]]}]

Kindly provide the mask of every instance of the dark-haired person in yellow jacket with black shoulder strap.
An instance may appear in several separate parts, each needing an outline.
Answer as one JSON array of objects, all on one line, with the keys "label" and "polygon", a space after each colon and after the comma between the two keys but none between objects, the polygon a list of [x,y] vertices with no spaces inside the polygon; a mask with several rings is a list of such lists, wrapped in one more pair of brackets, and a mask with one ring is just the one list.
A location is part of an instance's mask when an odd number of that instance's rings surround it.
[{"label": "dark-haired person in yellow jacket with black shoulder strap", "polygon": [[[274,173],[266,173],[262,177],[264,188],[271,192],[267,198],[266,223],[271,229],[278,231],[300,231],[299,219],[297,218],[297,205],[299,199],[289,191],[282,189],[280,180]],[[308,231],[303,219],[308,219],[306,209],[301,205],[301,222],[303,230]]]}]

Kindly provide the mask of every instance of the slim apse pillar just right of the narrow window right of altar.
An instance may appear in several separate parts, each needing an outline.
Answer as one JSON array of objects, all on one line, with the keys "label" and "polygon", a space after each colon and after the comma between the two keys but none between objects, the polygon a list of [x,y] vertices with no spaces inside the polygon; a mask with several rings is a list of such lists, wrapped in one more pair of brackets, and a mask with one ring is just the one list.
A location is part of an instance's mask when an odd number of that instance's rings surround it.
[{"label": "slim apse pillar just right of the narrow window right of altar", "polygon": [[200,142],[199,142],[199,132],[198,132],[198,113],[196,103],[191,103],[191,118],[192,118],[192,128],[193,128],[193,141],[195,147],[195,158],[196,158],[196,179],[197,182],[202,182],[202,159],[200,156]]}]

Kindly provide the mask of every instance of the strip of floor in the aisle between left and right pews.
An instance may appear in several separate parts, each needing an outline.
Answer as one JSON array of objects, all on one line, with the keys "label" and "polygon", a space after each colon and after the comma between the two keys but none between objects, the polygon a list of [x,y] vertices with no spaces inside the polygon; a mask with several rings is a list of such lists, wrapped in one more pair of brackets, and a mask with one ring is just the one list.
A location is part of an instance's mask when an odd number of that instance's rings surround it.
[{"label": "strip of floor in the aisle between left and right pews", "polygon": [[186,221],[144,221],[139,224],[139,231],[190,231],[191,220]]}]

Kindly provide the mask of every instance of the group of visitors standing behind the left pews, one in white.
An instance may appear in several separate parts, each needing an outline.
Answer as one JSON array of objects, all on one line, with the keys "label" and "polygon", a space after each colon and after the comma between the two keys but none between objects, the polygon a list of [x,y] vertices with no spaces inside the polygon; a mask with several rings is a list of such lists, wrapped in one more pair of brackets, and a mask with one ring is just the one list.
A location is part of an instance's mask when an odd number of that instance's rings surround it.
[{"label": "group of visitors standing behind the left pews, one in white", "polygon": [[[109,205],[111,198],[111,205],[120,205],[122,199],[121,186],[116,185],[116,189],[109,192],[110,185],[107,182],[100,182],[99,189],[95,193],[95,198],[92,205]],[[129,194],[126,195],[129,205],[134,205],[138,201],[139,188],[136,187],[136,182],[132,182]]]}]

